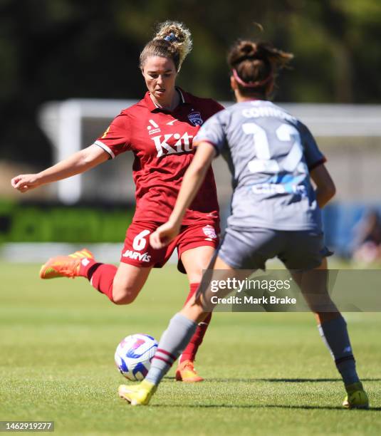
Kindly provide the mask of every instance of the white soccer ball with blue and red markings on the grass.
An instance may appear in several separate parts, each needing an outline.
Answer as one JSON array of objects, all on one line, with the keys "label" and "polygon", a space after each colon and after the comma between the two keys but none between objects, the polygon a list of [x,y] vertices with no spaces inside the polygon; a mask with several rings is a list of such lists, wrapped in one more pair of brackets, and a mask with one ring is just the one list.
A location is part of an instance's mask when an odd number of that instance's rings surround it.
[{"label": "white soccer ball with blue and red markings on the grass", "polygon": [[130,335],[124,338],[115,351],[118,370],[128,380],[143,380],[155,355],[157,341],[152,336]]}]

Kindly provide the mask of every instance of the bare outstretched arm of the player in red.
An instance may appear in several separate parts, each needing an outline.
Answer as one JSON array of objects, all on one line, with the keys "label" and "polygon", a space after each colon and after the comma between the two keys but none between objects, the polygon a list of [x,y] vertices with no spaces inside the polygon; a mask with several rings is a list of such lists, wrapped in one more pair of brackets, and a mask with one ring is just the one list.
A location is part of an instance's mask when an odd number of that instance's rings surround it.
[{"label": "bare outstretched arm of the player in red", "polygon": [[11,180],[11,185],[20,192],[27,192],[38,186],[81,174],[105,162],[108,158],[109,155],[105,150],[93,144],[46,170],[36,174],[18,175]]}]

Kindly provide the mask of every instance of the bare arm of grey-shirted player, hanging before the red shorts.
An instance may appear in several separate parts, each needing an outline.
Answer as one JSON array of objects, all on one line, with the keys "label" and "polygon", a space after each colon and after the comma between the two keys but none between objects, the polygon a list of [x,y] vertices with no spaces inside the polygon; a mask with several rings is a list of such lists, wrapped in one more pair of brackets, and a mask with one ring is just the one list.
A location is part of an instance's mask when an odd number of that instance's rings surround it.
[{"label": "bare arm of grey-shirted player, hanging before the red shorts", "polygon": [[179,234],[182,218],[199,191],[215,156],[214,145],[206,141],[199,142],[194,158],[184,174],[179,195],[169,220],[158,227],[150,236],[150,244],[153,248],[160,249],[166,246]]}]

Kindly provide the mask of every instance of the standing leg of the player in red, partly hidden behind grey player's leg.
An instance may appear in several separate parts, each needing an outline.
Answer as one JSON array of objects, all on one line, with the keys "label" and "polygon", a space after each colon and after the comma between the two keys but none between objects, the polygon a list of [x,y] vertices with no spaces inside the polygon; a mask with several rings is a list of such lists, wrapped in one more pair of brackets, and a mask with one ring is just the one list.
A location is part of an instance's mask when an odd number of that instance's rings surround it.
[{"label": "standing leg of the player in red, partly hidden behind grey player's leg", "polygon": [[[192,299],[197,291],[202,279],[202,271],[207,269],[213,254],[214,246],[197,246],[196,248],[186,250],[182,253],[181,260],[185,271],[187,271],[190,287],[185,305],[190,299]],[[179,358],[179,366],[176,370],[176,380],[188,383],[204,380],[194,369],[194,360],[196,359],[199,346],[201,346],[205,333],[207,332],[211,318],[212,313],[208,313],[206,318],[198,323],[194,335]]]}]

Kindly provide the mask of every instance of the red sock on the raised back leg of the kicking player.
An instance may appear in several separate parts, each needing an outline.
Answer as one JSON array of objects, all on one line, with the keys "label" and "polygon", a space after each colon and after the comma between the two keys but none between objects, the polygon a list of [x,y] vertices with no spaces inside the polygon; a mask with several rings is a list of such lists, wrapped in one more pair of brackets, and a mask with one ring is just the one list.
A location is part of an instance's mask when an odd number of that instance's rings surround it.
[{"label": "red sock on the raised back leg of the kicking player", "polygon": [[113,281],[117,269],[115,265],[100,264],[91,259],[80,264],[79,275],[86,277],[95,289],[113,301]]}]

